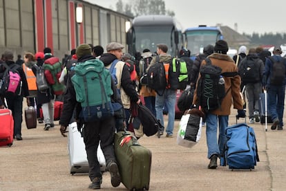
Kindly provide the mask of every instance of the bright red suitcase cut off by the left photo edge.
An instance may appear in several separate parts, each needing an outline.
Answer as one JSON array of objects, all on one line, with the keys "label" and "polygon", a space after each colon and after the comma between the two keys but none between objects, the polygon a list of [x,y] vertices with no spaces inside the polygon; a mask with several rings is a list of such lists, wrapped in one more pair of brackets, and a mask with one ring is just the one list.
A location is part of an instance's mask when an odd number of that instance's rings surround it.
[{"label": "bright red suitcase cut off by the left photo edge", "polygon": [[13,144],[14,120],[10,109],[0,109],[0,146]]}]

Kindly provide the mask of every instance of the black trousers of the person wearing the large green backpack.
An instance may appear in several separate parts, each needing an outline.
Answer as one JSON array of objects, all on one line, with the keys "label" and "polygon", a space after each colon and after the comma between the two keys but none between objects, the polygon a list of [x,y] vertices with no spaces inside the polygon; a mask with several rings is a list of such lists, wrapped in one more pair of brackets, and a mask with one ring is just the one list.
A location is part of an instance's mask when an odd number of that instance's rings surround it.
[{"label": "black trousers of the person wearing the large green backpack", "polygon": [[99,140],[102,152],[106,158],[106,165],[108,165],[110,161],[116,162],[113,147],[114,134],[114,117],[84,123],[84,144],[86,145],[90,181],[95,177],[102,177],[99,162],[97,161],[97,147],[99,145]]}]

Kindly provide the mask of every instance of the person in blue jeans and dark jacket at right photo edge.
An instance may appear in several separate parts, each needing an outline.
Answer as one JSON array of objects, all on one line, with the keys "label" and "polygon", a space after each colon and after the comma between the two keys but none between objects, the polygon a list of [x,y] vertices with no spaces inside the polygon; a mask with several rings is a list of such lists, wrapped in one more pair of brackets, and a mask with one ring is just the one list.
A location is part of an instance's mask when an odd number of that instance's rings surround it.
[{"label": "person in blue jeans and dark jacket at right photo edge", "polygon": [[[280,85],[271,84],[270,77],[275,75],[272,71],[274,62],[280,62],[280,64],[285,65],[286,60],[281,57],[282,51],[280,46],[274,47],[273,56],[267,57],[265,60],[265,73],[263,74],[263,89],[267,90],[267,111],[271,115],[273,124],[271,125],[271,130],[283,130],[283,113],[284,113],[284,100],[285,100],[285,84],[286,79],[284,79]],[[286,71],[285,71],[286,72]]]}]

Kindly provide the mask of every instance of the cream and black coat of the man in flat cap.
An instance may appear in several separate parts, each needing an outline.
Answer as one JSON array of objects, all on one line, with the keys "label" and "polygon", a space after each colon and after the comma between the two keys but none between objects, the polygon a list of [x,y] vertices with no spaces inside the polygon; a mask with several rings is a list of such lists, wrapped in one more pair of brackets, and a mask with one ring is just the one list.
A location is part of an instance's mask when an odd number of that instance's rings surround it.
[{"label": "cream and black coat of the man in flat cap", "polygon": [[[111,63],[117,60],[117,57],[111,53],[104,53],[99,60],[102,60],[106,69],[110,69]],[[128,66],[122,61],[117,62],[115,69],[117,69],[117,89],[120,89],[123,107],[124,109],[130,109],[130,102],[137,102],[139,100],[138,93],[130,78],[130,71]]]}]

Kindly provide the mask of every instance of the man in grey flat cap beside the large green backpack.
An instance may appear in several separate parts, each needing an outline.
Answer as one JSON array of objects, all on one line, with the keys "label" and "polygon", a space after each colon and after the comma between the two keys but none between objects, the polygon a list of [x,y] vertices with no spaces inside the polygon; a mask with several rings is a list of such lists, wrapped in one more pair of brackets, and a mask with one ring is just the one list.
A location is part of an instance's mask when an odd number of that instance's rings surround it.
[{"label": "man in grey flat cap beside the large green backpack", "polygon": [[[122,100],[122,104],[125,110],[125,122],[128,127],[128,119],[130,117],[130,109],[131,102],[136,102],[140,104],[140,99],[138,93],[131,81],[131,75],[129,72],[128,66],[125,62],[121,61],[122,59],[122,49],[124,46],[117,42],[111,42],[106,46],[107,53],[102,54],[99,60],[102,60],[106,69],[111,68],[111,64],[116,62],[115,70],[116,70],[116,79],[117,84],[116,87],[120,90],[120,97]],[[133,129],[129,129],[133,131]]]}]

